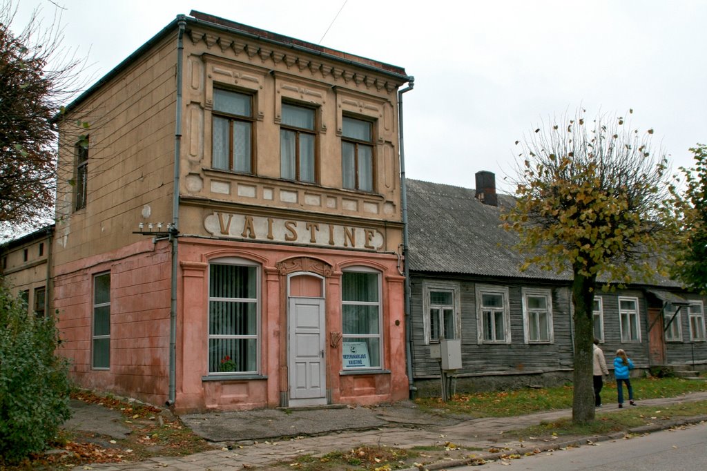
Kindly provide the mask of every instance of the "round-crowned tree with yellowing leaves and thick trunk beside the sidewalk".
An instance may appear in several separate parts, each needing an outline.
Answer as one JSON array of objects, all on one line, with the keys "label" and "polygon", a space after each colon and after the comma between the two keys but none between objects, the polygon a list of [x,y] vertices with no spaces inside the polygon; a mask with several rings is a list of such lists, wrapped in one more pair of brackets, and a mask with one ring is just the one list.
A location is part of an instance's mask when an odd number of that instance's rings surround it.
[{"label": "round-crowned tree with yellowing leaves and thick trunk beside the sidewalk", "polygon": [[667,189],[667,161],[650,149],[653,129],[639,134],[624,117],[587,122],[584,113],[543,124],[516,141],[522,147],[517,204],[503,216],[506,229],[519,233],[524,267],[572,274],[575,424],[595,417],[597,277],[618,283],[650,277],[650,258],[662,246],[664,231],[655,221]]}]

